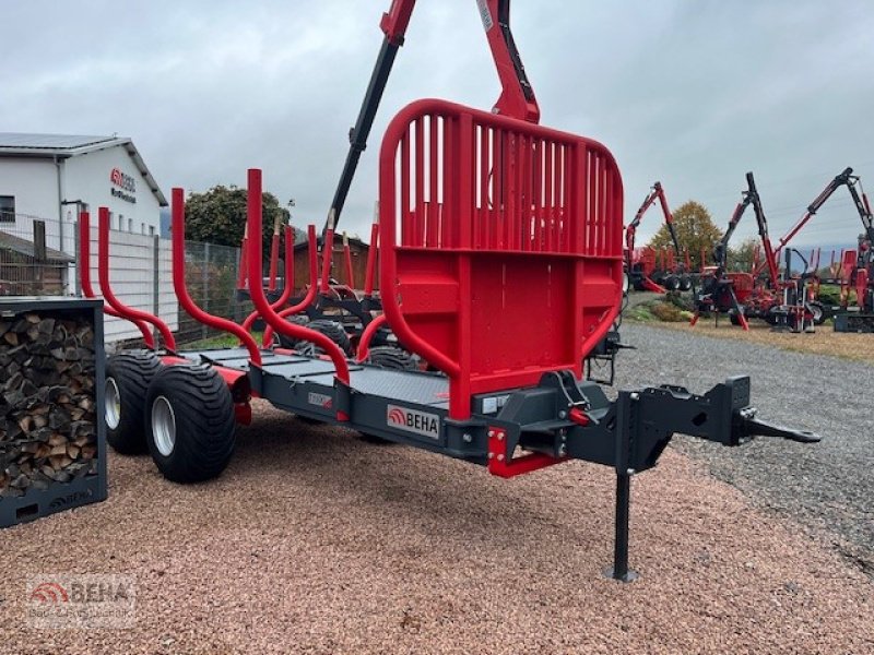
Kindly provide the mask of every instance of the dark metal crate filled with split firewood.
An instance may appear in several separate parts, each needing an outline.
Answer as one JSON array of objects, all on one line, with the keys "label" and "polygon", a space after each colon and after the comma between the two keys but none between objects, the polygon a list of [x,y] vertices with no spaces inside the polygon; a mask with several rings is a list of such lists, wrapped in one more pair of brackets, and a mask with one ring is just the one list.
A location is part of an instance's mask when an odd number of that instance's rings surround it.
[{"label": "dark metal crate filled with split firewood", "polygon": [[0,527],[106,500],[103,308],[0,298]]}]

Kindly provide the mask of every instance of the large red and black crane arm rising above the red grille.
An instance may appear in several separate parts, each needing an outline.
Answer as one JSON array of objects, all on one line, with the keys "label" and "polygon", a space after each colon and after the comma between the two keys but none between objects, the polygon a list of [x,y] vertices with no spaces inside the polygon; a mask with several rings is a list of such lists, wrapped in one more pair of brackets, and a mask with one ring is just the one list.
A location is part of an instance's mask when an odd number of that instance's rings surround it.
[{"label": "large red and black crane arm rising above the red grille", "polygon": [[[398,48],[403,45],[404,34],[415,4],[416,0],[392,0],[391,8],[382,14],[379,23],[386,37],[377,56],[374,72],[370,74],[370,83],[367,86],[358,119],[355,127],[350,130],[350,150],[346,163],[328,212],[329,216],[333,214],[334,227],[340,222],[340,214],[346,202],[352,179],[355,177],[358,160],[364,148],[367,147],[367,136],[373,128]],[[485,27],[488,47],[492,49],[492,57],[495,60],[501,86],[500,96],[495,103],[493,112],[533,123],[539,122],[540,107],[510,32],[510,0],[476,0],[476,5],[480,9],[480,17]]]}]

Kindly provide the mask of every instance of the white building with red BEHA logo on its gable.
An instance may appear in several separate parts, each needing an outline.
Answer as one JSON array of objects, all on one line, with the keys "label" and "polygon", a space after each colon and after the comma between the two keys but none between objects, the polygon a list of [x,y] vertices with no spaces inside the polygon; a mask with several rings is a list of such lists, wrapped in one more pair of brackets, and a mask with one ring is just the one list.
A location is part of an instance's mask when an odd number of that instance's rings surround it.
[{"label": "white building with red BEHA logo on its gable", "polygon": [[[11,293],[24,293],[16,289],[32,282],[24,278],[27,257],[39,242],[58,271],[57,279],[54,272],[49,277],[50,263],[39,260],[37,274],[29,275],[42,284],[35,293],[76,294],[76,221],[87,209],[92,215],[91,271],[97,287],[101,206],[110,212],[114,291],[131,307],[157,312],[175,330],[178,306],[173,294],[170,247],[158,238],[161,211],[167,200],[127,138],[0,132],[0,263],[9,260],[9,265],[0,267],[0,277],[17,274],[0,284],[5,283]],[[35,234],[35,222],[39,234]],[[107,317],[105,334],[107,342],[113,342],[137,337],[139,332],[128,321]]]}]

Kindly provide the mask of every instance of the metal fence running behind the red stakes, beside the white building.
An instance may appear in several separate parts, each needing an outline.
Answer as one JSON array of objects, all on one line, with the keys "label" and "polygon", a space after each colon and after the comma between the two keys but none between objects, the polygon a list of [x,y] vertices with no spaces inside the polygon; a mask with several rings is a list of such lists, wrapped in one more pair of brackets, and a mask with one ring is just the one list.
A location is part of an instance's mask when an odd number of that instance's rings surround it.
[{"label": "metal fence running behind the red stakes, beside the white building", "polygon": [[[0,223],[0,295],[72,296],[81,293],[75,221],[42,221],[16,215]],[[209,338],[214,332],[191,319],[173,289],[172,243],[157,236],[109,230],[109,278],[123,303],[160,315],[180,344]],[[186,243],[186,282],[204,311],[241,322],[251,303],[236,297],[239,248],[214,243]],[[99,291],[97,228],[91,226],[91,278]],[[128,321],[106,317],[107,343],[135,343],[139,332]]]}]

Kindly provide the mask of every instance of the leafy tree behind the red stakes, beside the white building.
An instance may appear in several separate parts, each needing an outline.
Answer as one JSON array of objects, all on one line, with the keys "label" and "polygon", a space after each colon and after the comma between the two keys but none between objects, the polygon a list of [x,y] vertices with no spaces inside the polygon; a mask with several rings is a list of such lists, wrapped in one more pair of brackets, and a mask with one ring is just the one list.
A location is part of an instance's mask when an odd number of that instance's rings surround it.
[{"label": "leafy tree behind the red stakes, beside the white building", "polygon": [[[281,225],[286,225],[290,213],[269,192],[261,196],[261,211],[262,243],[264,254],[269,255],[273,222],[279,218]],[[204,193],[191,193],[186,201],[185,227],[187,239],[239,247],[246,227],[246,190],[218,184]],[[306,233],[295,227],[295,242],[302,243],[304,240]]]}]

